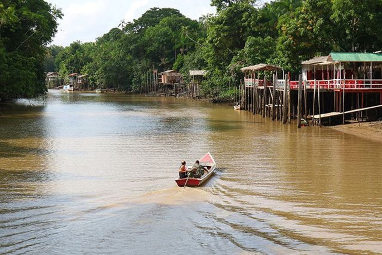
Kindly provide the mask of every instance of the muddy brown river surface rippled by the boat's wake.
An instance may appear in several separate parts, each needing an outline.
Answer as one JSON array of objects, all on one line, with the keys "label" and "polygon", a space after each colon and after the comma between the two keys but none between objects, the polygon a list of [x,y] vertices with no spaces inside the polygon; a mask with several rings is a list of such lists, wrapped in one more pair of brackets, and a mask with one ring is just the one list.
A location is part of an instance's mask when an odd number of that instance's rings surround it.
[{"label": "muddy brown river surface rippled by the boat's wake", "polygon": [[188,99],[31,103],[0,105],[1,254],[382,253],[380,143]]}]

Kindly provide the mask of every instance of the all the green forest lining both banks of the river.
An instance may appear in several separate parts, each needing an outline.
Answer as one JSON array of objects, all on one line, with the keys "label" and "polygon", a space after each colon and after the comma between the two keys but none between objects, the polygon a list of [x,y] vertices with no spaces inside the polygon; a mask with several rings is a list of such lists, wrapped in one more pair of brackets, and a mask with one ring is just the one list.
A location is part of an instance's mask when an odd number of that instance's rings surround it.
[{"label": "all the green forest lining both banks of the river", "polygon": [[276,0],[264,5],[211,0],[211,5],[217,12],[197,21],[172,8],[151,8],[95,42],[76,41],[64,48],[47,47],[62,18],[59,10],[42,0],[3,1],[0,98],[42,93],[44,71],[78,72],[89,75],[94,88],[139,92],[153,69],[174,69],[186,81],[189,70],[207,70],[202,94],[224,101],[236,92],[230,84],[238,86],[244,66],[275,64],[295,76],[301,61],[317,55],[382,50],[382,0]]}]

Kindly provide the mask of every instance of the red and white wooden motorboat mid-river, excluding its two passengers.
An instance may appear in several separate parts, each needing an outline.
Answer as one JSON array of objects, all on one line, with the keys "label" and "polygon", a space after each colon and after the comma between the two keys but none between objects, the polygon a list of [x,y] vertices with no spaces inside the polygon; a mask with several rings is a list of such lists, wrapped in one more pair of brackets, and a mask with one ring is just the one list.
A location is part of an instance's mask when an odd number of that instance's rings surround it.
[{"label": "red and white wooden motorboat mid-river, excluding its two passengers", "polygon": [[[205,182],[211,175],[214,173],[216,169],[216,163],[214,158],[212,158],[210,153],[207,153],[203,157],[199,159],[199,162],[202,166],[204,166],[208,170],[208,174],[204,174],[201,178],[183,178],[183,179],[176,179],[175,182],[178,184],[179,187],[198,187],[203,182]],[[189,170],[191,170],[191,167],[188,167]],[[186,183],[187,182],[187,183]]]}]

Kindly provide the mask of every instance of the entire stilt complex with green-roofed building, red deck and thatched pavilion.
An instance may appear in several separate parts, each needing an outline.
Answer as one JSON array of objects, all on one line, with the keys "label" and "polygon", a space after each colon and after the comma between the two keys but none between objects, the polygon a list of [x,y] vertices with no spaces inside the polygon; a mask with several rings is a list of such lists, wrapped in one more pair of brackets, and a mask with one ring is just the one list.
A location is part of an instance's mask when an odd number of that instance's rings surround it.
[{"label": "entire stilt complex with green-roofed building, red deck and thatched pavilion", "polygon": [[[243,109],[262,113],[264,117],[283,119],[284,123],[286,119],[290,122],[290,119],[297,118],[298,127],[301,127],[303,117],[311,119],[312,123],[325,125],[382,117],[380,52],[331,52],[327,56],[306,60],[301,65],[297,81],[290,80],[290,75],[277,79],[279,69],[265,64],[242,68]],[[266,77],[263,80],[259,78],[260,70],[274,72],[270,85]],[[272,114],[266,109],[272,109]]]}]

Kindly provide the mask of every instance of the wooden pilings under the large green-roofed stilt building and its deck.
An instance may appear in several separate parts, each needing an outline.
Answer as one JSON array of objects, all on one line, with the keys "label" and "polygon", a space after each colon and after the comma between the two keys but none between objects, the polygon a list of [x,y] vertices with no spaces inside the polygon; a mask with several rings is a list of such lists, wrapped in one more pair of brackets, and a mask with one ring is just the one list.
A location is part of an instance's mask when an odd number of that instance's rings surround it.
[{"label": "wooden pilings under the large green-roofed stilt building and its deck", "polygon": [[[245,86],[241,83],[241,109],[248,110],[262,117],[272,118],[284,124],[297,120],[307,120],[311,125],[344,124],[345,120],[377,120],[382,116],[382,108],[359,110],[346,114],[346,111],[365,109],[364,107],[382,105],[382,92],[359,92],[333,89],[320,89],[320,86],[306,88],[306,81],[299,75],[298,85],[290,89],[288,75],[284,80],[277,80],[277,75],[268,80],[264,77],[263,86],[253,83]],[[346,96],[345,96],[346,94]],[[321,115],[330,112],[342,112],[335,117],[321,119]],[[316,118],[314,117],[316,115]]]}]

